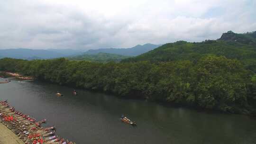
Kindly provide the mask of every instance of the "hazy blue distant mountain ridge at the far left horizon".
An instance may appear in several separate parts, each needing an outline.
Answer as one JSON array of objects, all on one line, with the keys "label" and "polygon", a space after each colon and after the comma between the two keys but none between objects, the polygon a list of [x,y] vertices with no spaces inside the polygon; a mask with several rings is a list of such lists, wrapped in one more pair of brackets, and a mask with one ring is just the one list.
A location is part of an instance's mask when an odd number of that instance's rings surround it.
[{"label": "hazy blue distant mountain ridge at the far left horizon", "polygon": [[11,57],[18,59],[50,59],[57,57],[66,57],[71,55],[81,54],[79,50],[72,49],[26,49],[26,48],[18,48],[18,49],[3,49],[0,50],[0,58],[3,57]]}]

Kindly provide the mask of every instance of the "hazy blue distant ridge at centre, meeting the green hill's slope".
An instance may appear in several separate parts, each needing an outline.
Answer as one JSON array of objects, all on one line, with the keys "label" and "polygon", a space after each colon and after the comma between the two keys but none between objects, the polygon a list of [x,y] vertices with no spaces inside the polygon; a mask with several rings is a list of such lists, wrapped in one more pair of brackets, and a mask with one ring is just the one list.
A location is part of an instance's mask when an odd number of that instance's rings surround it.
[{"label": "hazy blue distant ridge at centre, meeting the green hill's slope", "polygon": [[150,50],[153,50],[159,46],[161,45],[145,44],[145,45],[136,45],[131,48],[102,48],[102,49],[96,49],[96,50],[88,50],[85,54],[108,53],[108,54],[120,54],[120,55],[127,55],[127,56],[137,56],[139,54],[143,54]]}]

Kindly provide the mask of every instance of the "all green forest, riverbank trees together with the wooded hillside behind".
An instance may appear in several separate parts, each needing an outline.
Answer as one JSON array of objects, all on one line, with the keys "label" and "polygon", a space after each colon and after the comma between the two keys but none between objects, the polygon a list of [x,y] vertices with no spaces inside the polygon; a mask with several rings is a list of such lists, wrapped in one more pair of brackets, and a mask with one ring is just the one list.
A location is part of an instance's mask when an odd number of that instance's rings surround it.
[{"label": "all green forest, riverbank trees together with the wooded hillside behind", "polygon": [[42,81],[196,108],[256,115],[256,47],[179,41],[121,63],[0,59],[0,71]]}]

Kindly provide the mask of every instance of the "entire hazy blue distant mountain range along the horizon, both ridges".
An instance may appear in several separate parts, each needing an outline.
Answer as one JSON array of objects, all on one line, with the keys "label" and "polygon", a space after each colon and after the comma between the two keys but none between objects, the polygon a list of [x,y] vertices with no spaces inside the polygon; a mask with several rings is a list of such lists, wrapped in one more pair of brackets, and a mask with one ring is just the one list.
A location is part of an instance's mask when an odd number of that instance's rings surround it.
[{"label": "entire hazy blue distant mountain range along the horizon, both ridges", "polygon": [[[119,54],[126,56],[137,56],[139,54],[146,53],[152,49],[161,45],[153,45],[153,44],[145,44],[145,45],[137,45],[132,48],[103,48],[97,50],[88,50],[84,53],[83,50],[73,50],[73,49],[27,49],[27,48],[17,48],[17,49],[2,49],[0,50],[0,58],[10,57],[10,58],[18,58],[18,59],[51,59],[58,57],[71,57],[79,54],[98,54],[98,53],[108,53],[108,54]],[[100,54],[103,56],[102,54]],[[106,54],[104,55],[106,56]],[[103,56],[103,57],[104,57]],[[114,59],[117,58],[117,55],[112,55]],[[80,56],[84,57],[84,56]],[[95,55],[94,55],[95,57]],[[110,57],[108,55],[107,57]],[[123,58],[122,56],[119,56]]]}]

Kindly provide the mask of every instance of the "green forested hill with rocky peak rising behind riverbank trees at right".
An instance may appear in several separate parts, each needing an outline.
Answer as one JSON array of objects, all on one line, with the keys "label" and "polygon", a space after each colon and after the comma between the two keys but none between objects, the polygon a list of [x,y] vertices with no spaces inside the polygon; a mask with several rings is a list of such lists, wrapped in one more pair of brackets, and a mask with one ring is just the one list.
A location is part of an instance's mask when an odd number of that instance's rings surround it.
[{"label": "green forested hill with rocky peak rising behind riverbank trees at right", "polygon": [[205,40],[200,43],[178,41],[155,48],[145,54],[122,60],[122,62],[167,62],[190,60],[198,61],[206,55],[225,56],[238,59],[248,69],[256,72],[256,45],[255,34],[235,34],[231,31],[224,33],[218,40]]}]

